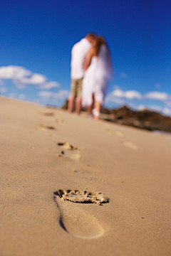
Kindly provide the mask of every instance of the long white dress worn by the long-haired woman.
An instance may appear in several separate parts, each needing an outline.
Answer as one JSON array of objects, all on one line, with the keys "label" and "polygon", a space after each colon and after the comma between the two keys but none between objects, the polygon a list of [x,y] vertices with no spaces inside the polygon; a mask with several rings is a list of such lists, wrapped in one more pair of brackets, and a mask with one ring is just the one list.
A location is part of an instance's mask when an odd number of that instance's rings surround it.
[{"label": "long white dress worn by the long-haired woman", "polygon": [[98,56],[94,56],[83,78],[82,105],[90,106],[95,100],[103,105],[108,83],[113,75],[110,55],[105,45],[100,47]]}]

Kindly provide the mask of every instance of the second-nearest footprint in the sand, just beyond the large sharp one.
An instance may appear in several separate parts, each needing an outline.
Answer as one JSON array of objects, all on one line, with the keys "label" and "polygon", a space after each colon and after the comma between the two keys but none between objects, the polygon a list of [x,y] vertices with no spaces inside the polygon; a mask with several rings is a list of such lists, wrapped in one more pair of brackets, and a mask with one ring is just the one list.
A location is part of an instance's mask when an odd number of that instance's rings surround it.
[{"label": "second-nearest footprint in the sand, just beyond the large sharp one", "polygon": [[68,142],[58,142],[58,146],[61,146],[63,151],[61,151],[61,154],[57,154],[57,156],[66,156],[73,160],[80,159],[81,155],[75,152],[76,150],[80,150],[77,146],[73,146]]}]

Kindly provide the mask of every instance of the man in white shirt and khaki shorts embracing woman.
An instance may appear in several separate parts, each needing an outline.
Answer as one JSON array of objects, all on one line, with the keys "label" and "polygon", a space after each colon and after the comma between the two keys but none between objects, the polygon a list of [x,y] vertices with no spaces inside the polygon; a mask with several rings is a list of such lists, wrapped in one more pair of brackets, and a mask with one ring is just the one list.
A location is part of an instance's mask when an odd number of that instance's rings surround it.
[{"label": "man in white shirt and khaki shorts embracing woman", "polygon": [[76,113],[81,112],[81,92],[83,75],[85,72],[85,60],[88,50],[95,41],[95,35],[89,33],[86,38],[76,43],[71,50],[71,94],[68,98],[68,111],[73,111],[73,105],[76,99]]}]

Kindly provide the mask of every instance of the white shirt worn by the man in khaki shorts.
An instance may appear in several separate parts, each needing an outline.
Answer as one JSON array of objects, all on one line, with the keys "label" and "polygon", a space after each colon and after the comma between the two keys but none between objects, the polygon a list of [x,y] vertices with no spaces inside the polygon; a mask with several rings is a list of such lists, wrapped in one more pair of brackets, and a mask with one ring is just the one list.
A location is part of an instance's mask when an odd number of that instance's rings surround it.
[{"label": "white shirt worn by the man in khaki shorts", "polygon": [[71,78],[83,78],[86,55],[91,47],[90,42],[86,38],[81,39],[81,41],[73,46],[71,50]]}]

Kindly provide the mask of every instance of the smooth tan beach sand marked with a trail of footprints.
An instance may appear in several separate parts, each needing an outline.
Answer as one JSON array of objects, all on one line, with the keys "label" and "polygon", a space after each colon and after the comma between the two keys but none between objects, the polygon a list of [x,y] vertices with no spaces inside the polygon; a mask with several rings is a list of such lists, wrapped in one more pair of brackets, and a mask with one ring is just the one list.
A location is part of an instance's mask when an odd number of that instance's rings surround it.
[{"label": "smooth tan beach sand marked with a trail of footprints", "polygon": [[171,255],[169,135],[0,106],[1,256]]}]

